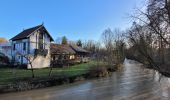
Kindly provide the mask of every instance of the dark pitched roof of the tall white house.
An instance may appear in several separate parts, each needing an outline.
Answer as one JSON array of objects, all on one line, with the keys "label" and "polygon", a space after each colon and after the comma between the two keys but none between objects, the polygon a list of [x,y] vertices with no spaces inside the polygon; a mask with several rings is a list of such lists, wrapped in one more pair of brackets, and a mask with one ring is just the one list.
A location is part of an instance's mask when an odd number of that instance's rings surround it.
[{"label": "dark pitched roof of the tall white house", "polygon": [[[11,40],[20,40],[20,39],[25,39],[28,38],[28,36],[30,36],[33,32],[35,32],[36,30],[40,29],[44,27],[43,25],[38,25],[26,30],[23,30],[21,33],[19,33],[18,35],[14,36]],[[48,33],[48,32],[47,32]],[[50,34],[48,33],[50,39],[53,41],[53,38],[50,36]]]}]

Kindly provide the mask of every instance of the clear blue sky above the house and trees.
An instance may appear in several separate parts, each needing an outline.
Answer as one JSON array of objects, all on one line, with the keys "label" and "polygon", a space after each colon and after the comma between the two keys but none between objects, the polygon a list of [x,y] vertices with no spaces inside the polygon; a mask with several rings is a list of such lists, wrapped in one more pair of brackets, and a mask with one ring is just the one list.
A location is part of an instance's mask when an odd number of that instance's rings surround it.
[{"label": "clear blue sky above the house and trees", "polygon": [[130,27],[143,0],[0,0],[0,37],[44,23],[53,39],[98,40],[107,28]]}]

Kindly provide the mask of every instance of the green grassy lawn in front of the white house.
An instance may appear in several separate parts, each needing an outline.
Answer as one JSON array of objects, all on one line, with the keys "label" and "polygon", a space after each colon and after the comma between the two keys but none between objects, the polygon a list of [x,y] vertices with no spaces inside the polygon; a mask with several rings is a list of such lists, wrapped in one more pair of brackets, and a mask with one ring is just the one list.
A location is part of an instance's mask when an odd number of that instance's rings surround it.
[{"label": "green grassy lawn in front of the white house", "polygon": [[[69,66],[67,68],[53,68],[52,75],[55,76],[74,76],[87,73],[90,68],[95,67],[96,62],[91,61],[88,63],[77,64]],[[35,69],[35,77],[48,77],[50,68],[45,69]],[[13,82],[16,78],[29,78],[31,77],[31,70],[27,69],[10,69],[10,68],[0,68],[0,85],[9,84]]]}]

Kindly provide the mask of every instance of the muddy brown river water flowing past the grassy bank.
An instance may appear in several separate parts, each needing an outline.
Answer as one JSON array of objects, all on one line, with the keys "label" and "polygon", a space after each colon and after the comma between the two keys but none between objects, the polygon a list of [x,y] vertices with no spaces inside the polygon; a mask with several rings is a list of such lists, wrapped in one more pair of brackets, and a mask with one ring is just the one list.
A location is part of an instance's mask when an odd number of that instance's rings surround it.
[{"label": "muddy brown river water flowing past the grassy bank", "polygon": [[170,100],[170,79],[142,64],[125,60],[112,77],[25,92],[1,94],[0,100]]}]

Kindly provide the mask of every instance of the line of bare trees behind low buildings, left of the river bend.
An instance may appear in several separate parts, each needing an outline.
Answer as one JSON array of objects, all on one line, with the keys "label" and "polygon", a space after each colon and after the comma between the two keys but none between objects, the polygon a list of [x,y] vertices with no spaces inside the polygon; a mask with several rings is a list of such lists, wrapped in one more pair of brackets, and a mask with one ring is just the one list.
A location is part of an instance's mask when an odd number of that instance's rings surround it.
[{"label": "line of bare trees behind low buildings, left of the river bend", "polygon": [[123,63],[125,59],[125,37],[124,32],[118,28],[105,29],[98,41],[77,40],[70,41],[66,36],[58,37],[57,44],[77,45],[90,52],[90,58],[97,62],[106,62],[108,66],[115,67]]}]

